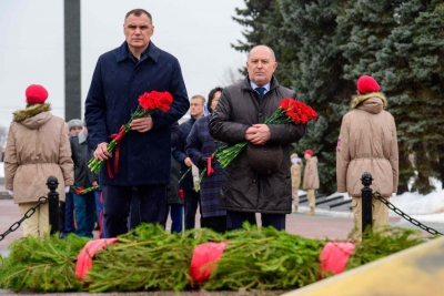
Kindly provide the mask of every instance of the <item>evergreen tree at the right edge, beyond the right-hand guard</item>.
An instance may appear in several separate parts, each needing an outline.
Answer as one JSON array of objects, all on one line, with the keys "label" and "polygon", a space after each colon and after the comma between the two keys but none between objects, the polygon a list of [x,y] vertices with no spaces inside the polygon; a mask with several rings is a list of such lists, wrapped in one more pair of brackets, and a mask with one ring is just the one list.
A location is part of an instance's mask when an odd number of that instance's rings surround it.
[{"label": "evergreen tree at the right edge, beyond the right-hand guard", "polygon": [[377,64],[384,70],[382,83],[404,157],[414,155],[417,174],[412,190],[426,194],[434,188],[430,178],[438,176],[440,160],[443,164],[444,3],[405,1],[395,7],[394,16],[397,25],[384,40]]}]

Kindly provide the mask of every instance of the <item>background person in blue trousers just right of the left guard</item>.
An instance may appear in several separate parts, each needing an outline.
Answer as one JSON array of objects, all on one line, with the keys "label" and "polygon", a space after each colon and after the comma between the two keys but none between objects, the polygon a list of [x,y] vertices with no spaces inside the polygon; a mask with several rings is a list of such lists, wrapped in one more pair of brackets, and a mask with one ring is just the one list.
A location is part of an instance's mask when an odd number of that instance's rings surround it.
[{"label": "background person in blue trousers just right of the left guard", "polygon": [[[73,120],[80,121],[80,120]],[[80,121],[82,122],[82,121]],[[88,156],[90,155],[87,145],[88,129],[84,129],[74,136],[70,137],[72,161],[74,163],[74,211],[75,211],[75,234],[78,236],[93,238],[92,231],[95,223],[95,196],[94,192],[80,193],[80,188],[92,186],[88,167]]]}]

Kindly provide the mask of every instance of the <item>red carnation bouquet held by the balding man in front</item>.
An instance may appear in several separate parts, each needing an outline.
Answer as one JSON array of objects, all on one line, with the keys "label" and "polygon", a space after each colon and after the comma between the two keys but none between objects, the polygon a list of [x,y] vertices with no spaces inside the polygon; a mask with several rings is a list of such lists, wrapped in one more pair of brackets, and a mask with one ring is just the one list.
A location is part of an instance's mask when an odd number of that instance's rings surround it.
[{"label": "red carnation bouquet held by the balding man in front", "polygon": [[[309,105],[294,100],[293,98],[282,99],[278,105],[278,110],[265,120],[265,124],[294,123],[305,124],[309,120],[316,120],[317,113]],[[246,146],[248,142],[241,142],[215,153],[222,169],[225,169],[241,151]]]}]

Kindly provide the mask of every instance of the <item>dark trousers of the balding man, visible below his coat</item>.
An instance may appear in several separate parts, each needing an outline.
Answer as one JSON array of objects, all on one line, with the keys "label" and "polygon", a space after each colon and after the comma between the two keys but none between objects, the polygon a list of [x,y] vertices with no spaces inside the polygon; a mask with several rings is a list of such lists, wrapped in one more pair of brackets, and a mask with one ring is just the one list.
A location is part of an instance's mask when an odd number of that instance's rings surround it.
[{"label": "dark trousers of the balding man, visible below his coat", "polygon": [[[285,229],[285,214],[261,213],[262,227],[273,226],[278,231]],[[241,229],[242,224],[249,222],[256,224],[255,213],[226,211],[226,229]]]}]

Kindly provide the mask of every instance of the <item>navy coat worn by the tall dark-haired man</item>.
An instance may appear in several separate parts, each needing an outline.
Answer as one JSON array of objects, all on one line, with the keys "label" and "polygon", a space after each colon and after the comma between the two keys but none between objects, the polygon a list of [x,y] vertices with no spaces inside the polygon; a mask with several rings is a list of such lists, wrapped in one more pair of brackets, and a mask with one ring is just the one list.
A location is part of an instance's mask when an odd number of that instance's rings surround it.
[{"label": "navy coat worn by the tall dark-haired man", "polygon": [[168,184],[170,126],[186,113],[190,102],[178,60],[153,42],[139,61],[129,51],[127,42],[99,58],[84,113],[91,149],[109,143],[109,136],[130,120],[139,96],[151,91],[170,92],[173,96],[171,109],[152,115],[154,126],[151,131],[130,131],[120,141],[119,173],[110,178],[103,165],[100,172],[102,185]]}]

